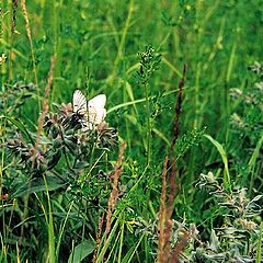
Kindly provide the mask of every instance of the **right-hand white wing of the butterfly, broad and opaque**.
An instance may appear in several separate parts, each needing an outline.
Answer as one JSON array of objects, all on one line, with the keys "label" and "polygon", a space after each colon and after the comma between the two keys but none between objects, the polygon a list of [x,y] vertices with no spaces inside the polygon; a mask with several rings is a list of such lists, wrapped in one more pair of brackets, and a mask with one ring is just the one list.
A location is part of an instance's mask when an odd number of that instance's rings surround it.
[{"label": "right-hand white wing of the butterfly, broad and opaque", "polygon": [[100,94],[88,102],[88,122],[91,124],[101,124],[106,116],[104,108],[106,103],[106,95]]}]

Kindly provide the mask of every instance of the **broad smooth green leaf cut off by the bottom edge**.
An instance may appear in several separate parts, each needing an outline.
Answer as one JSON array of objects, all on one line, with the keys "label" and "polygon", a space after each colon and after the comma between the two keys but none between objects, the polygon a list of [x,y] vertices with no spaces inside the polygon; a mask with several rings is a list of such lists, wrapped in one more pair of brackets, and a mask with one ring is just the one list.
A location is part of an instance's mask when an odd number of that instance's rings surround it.
[{"label": "broad smooth green leaf cut off by the bottom edge", "polygon": [[75,247],[73,251],[70,253],[68,263],[79,263],[89,254],[91,254],[95,249],[95,244],[91,240],[83,240],[80,244]]}]

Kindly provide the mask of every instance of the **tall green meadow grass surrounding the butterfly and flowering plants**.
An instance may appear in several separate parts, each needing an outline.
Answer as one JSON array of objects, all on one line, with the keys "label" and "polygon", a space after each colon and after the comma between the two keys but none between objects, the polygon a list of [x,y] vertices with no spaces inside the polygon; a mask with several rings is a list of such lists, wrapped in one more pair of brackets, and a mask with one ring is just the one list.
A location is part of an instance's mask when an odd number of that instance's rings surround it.
[{"label": "tall green meadow grass surrounding the butterfly and flowering plants", "polygon": [[[262,80],[248,70],[263,57],[261,0],[32,0],[26,2],[32,45],[25,14],[15,2],[0,2],[0,55],[7,56],[0,66],[0,195],[9,194],[8,201],[0,199],[0,262],[78,262],[83,254],[82,262],[91,262],[94,251],[95,262],[157,259],[162,165],[170,155],[184,65],[180,138],[172,153],[178,168],[172,218],[188,230],[195,224],[204,241],[222,226],[216,197],[196,186],[201,173],[213,172],[229,194],[238,186],[248,188],[251,199],[262,193],[263,102],[255,89]],[[145,81],[138,72],[148,45],[161,62],[156,68],[149,64],[155,70],[149,69]],[[110,174],[118,146],[98,149],[92,139],[89,165],[77,168],[76,153],[64,151],[59,159],[59,146],[43,132],[41,145],[54,147],[52,156],[59,161],[52,174],[37,176],[30,167],[19,170],[20,157],[10,156],[5,147],[14,138],[34,145],[53,56],[48,111],[57,113],[57,105],[71,102],[76,89],[87,98],[105,93],[106,122],[127,145],[107,238]],[[232,98],[237,88],[243,95]],[[245,125],[236,125],[233,114]],[[262,218],[254,215],[251,220],[262,238]],[[185,245],[185,256],[191,249]]]}]

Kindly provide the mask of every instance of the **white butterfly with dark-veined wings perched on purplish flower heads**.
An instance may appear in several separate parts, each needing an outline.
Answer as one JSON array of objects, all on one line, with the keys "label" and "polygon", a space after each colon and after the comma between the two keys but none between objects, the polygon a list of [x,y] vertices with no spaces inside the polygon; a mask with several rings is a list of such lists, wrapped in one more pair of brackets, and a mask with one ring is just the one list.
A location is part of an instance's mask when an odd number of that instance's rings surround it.
[{"label": "white butterfly with dark-veined wings perched on purplish flower heads", "polygon": [[75,91],[73,113],[80,117],[83,132],[93,129],[96,125],[104,121],[106,116],[106,110],[104,108],[105,103],[105,94],[96,95],[90,101],[87,101],[80,90]]}]

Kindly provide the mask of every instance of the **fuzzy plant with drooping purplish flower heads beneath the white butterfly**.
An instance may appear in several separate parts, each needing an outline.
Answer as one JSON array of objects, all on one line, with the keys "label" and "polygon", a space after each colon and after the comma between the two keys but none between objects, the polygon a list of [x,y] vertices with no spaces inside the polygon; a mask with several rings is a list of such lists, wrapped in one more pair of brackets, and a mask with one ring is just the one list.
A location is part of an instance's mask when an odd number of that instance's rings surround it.
[{"label": "fuzzy plant with drooping purplish flower heads beneath the white butterfly", "polygon": [[[100,163],[117,144],[116,129],[103,122],[96,128],[83,132],[72,113],[71,103],[62,104],[56,113],[49,112],[43,128],[36,152],[33,144],[36,136],[32,133],[27,133],[28,139],[18,130],[16,138],[8,140],[10,158],[16,159],[13,163],[16,163],[14,165],[18,171],[27,174],[31,180],[55,176],[66,183],[71,192],[89,198],[98,196],[94,185],[101,188],[107,182],[106,174],[100,170]],[[100,181],[98,184],[92,180],[94,173]]]}]

